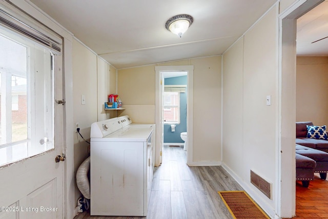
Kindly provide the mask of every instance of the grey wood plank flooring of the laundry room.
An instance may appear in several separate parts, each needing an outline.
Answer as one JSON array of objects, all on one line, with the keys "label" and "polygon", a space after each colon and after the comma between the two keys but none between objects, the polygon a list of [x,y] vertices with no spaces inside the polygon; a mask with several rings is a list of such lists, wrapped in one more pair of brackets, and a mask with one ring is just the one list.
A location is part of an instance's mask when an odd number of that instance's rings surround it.
[{"label": "grey wood plank flooring of the laundry room", "polygon": [[182,147],[165,146],[162,165],[155,167],[147,217],[90,216],[79,213],[75,219],[232,219],[217,191],[242,190],[222,168],[188,167]]}]

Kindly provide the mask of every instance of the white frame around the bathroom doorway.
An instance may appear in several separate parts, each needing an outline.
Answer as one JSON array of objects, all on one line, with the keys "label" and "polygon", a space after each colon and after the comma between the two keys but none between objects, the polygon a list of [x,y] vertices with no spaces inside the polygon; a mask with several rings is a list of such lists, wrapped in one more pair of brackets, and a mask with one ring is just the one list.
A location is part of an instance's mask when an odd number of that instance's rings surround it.
[{"label": "white frame around the bathroom doorway", "polygon": [[155,124],[156,124],[156,144],[155,144],[155,166],[161,164],[161,152],[163,146],[162,138],[162,72],[166,71],[187,71],[187,132],[188,149],[187,165],[193,163],[193,84],[194,84],[194,66],[155,66]]}]

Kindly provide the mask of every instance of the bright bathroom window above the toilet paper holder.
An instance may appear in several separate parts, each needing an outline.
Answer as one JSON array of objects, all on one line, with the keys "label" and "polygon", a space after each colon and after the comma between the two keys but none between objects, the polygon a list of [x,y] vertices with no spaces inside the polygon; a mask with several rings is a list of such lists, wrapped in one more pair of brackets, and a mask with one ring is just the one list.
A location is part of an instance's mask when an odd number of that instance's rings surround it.
[{"label": "bright bathroom window above the toilet paper holder", "polygon": [[163,119],[165,124],[180,123],[180,92],[164,92]]}]

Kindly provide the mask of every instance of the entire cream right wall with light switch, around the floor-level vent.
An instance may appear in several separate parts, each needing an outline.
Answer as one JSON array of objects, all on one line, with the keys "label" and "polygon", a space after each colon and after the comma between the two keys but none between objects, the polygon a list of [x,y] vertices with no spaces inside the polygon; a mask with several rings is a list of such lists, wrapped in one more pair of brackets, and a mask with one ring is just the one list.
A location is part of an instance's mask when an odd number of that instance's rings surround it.
[{"label": "entire cream right wall with light switch, around the floor-level vent", "polygon": [[[223,54],[223,163],[256,201],[275,208],[277,15],[273,7]],[[266,97],[271,95],[271,106]],[[250,182],[272,183],[272,199]]]}]

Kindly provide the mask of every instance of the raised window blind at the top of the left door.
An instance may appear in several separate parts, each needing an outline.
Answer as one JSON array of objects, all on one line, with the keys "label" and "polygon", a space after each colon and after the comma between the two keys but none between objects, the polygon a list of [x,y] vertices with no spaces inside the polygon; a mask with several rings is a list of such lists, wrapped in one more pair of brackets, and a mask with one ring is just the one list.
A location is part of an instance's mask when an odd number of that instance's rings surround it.
[{"label": "raised window blind at the top of the left door", "polygon": [[[17,18],[12,12],[0,7],[0,24],[10,30],[23,34],[24,36],[42,44],[57,52],[61,52],[63,40],[52,33],[50,30],[40,29],[33,27],[31,22],[27,21],[27,18]],[[24,21],[25,20],[25,21]]]}]

